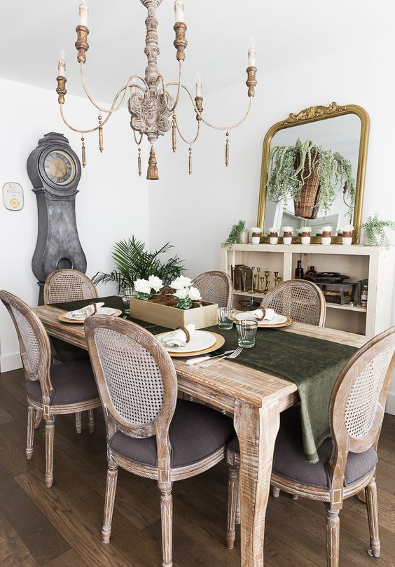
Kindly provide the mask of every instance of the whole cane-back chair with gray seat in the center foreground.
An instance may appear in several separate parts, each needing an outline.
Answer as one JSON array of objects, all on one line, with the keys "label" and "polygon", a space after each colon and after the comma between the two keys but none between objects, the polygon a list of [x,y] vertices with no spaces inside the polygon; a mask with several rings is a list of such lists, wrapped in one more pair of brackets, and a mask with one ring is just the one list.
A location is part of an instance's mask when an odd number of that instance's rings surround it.
[{"label": "whole cane-back chair with gray seat in the center foreground", "polygon": [[162,566],[172,567],[172,483],[221,461],[234,435],[233,422],[204,405],[177,400],[172,359],[144,328],[94,315],[84,329],[107,430],[102,540],[110,540],[120,466],[158,482]]}]

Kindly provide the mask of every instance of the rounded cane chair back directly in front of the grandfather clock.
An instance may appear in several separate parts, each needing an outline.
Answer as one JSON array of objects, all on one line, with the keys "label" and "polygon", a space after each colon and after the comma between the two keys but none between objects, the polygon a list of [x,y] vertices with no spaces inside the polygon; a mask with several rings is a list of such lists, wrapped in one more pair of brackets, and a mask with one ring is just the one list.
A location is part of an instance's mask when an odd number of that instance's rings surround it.
[{"label": "rounded cane chair back directly in front of the grandfather clock", "polygon": [[57,269],[44,283],[44,304],[78,301],[98,297],[92,281],[76,269]]}]

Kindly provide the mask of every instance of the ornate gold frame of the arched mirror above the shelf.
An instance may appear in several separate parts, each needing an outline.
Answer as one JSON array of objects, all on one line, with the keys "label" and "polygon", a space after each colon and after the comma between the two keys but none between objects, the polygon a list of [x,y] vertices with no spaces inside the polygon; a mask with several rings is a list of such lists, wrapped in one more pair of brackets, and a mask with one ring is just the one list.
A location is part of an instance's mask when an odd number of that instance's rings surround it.
[{"label": "ornate gold frame of the arched mirror above the shelf", "polygon": [[[307,124],[311,122],[317,122],[318,120],[328,120],[329,118],[335,118],[337,116],[343,116],[345,114],[356,114],[361,120],[361,136],[359,139],[359,156],[358,156],[358,171],[356,175],[356,195],[354,204],[354,214],[352,217],[352,224],[354,225],[354,233],[352,236],[352,244],[359,244],[359,239],[361,236],[361,220],[362,220],[362,207],[363,207],[363,192],[365,188],[365,176],[366,176],[366,158],[368,155],[368,139],[369,139],[369,128],[370,120],[369,115],[362,106],[357,104],[347,104],[346,106],[339,106],[335,102],[329,104],[329,106],[310,106],[307,109],[303,109],[297,114],[291,113],[286,120],[277,122],[272,125],[270,130],[268,130],[263,140],[263,151],[262,151],[262,169],[261,169],[261,189],[259,192],[259,203],[258,203],[258,221],[256,225],[263,228],[265,221],[265,207],[266,207],[266,183],[268,181],[268,160],[270,153],[270,144],[272,143],[272,138],[275,136],[279,130],[284,130],[286,128],[291,128],[301,124]],[[268,237],[262,237],[261,242],[269,242]],[[282,242],[282,237],[279,238],[279,242]],[[293,237],[292,242],[294,244],[300,243],[300,237]],[[320,237],[312,237],[312,244],[320,244]],[[332,237],[333,244],[341,244],[342,239],[340,236]]]}]

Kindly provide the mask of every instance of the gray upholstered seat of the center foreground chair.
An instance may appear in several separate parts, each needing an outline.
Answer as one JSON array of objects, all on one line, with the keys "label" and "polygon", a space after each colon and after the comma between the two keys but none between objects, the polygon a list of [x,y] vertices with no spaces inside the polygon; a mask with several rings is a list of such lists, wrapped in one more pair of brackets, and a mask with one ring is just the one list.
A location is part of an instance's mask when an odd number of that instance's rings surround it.
[{"label": "gray upholstered seat of the center foreground chair", "polygon": [[[233,435],[233,421],[226,415],[205,405],[178,400],[169,428],[172,468],[202,461],[225,447]],[[158,466],[155,437],[137,439],[117,431],[109,445],[130,461]]]}]

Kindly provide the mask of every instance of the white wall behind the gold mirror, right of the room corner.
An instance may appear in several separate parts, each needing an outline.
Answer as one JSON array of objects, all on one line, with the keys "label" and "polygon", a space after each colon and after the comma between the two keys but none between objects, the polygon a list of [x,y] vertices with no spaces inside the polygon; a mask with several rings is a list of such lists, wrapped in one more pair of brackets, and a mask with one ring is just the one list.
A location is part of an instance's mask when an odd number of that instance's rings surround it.
[{"label": "white wall behind the gold mirror, right of the room corner", "polygon": [[[158,144],[162,177],[151,182],[156,183],[151,189],[151,245],[171,239],[181,258],[187,259],[192,275],[218,268],[219,243],[231,225],[240,218],[249,226],[256,223],[265,132],[289,112],[332,101],[359,104],[368,111],[370,143],[363,218],[377,211],[382,218],[394,219],[395,119],[391,108],[395,89],[389,71],[394,51],[394,40],[371,41],[277,73],[258,74],[251,116],[230,134],[228,169],[224,165],[225,135],[208,132],[207,127],[195,146],[190,177],[186,174],[187,148],[181,141],[175,156],[169,141],[167,145]],[[205,117],[216,123],[235,121],[246,104],[244,83],[209,94],[203,101]],[[189,120],[186,118],[184,106],[177,114],[185,118],[192,133],[195,119],[190,112]],[[394,382],[388,407],[395,413]]]}]

